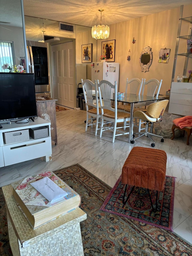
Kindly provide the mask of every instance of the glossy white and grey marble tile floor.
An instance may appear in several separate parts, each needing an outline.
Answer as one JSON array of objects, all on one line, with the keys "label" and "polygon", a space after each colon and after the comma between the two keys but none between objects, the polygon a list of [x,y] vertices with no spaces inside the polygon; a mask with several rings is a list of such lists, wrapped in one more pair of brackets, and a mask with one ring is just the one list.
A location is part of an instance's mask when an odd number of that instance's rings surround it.
[{"label": "glossy white and grey marble tile floor", "polygon": [[[134,146],[151,147],[150,140],[142,137],[135,144],[128,136],[118,136],[112,143],[112,133],[104,131],[95,136],[95,128],[85,132],[86,112],[66,110],[56,112],[58,145],[52,144],[52,161],[43,158],[0,168],[0,187],[39,171],[55,171],[78,163],[99,179],[113,187],[121,175],[123,164]],[[186,137],[174,140],[155,138],[155,148],[167,153],[166,175],[175,176],[173,229],[192,243],[192,136],[190,145]]]}]

